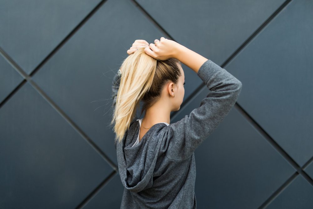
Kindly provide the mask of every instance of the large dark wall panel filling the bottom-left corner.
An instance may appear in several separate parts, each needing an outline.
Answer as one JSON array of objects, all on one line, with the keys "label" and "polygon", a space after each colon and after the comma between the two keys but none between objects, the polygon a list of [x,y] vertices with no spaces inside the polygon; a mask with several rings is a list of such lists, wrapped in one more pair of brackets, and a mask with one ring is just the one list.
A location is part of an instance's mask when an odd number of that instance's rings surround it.
[{"label": "large dark wall panel filling the bottom-left corner", "polygon": [[29,83],[0,109],[1,208],[75,208],[112,168]]}]

